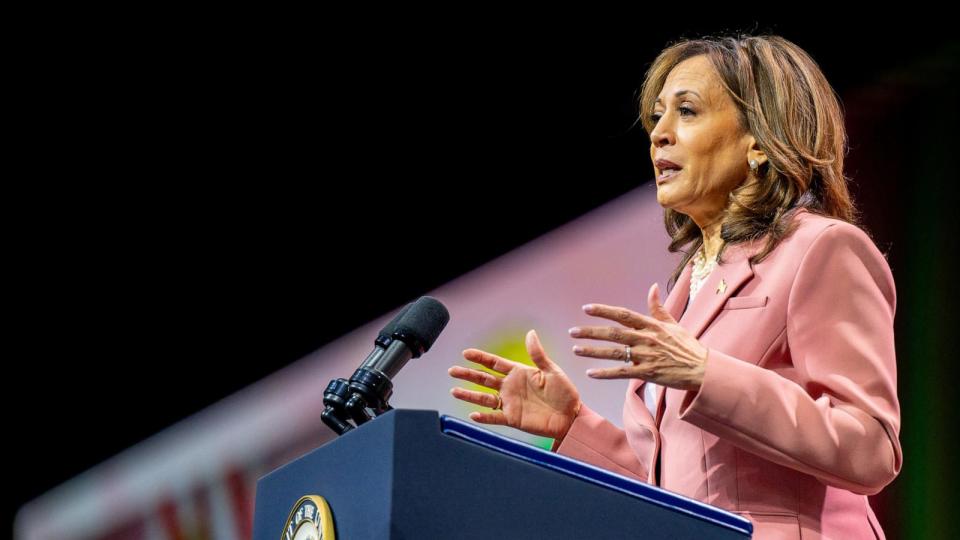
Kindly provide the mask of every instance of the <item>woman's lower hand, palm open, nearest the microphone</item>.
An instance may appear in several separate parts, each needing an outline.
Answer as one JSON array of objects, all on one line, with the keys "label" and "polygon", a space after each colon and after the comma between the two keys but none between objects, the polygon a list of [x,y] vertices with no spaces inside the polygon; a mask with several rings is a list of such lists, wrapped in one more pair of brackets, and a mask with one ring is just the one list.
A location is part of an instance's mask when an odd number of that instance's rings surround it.
[{"label": "woman's lower hand, palm open, nearest the microphone", "polygon": [[[533,330],[527,333],[527,352],[536,367],[507,360],[479,349],[463,351],[463,357],[494,371],[497,375],[478,369],[453,366],[447,372],[451,377],[479,384],[500,392],[502,410],[474,412],[470,419],[481,424],[510,426],[534,435],[560,440],[566,436],[580,410],[580,392],[555,364],[540,344]],[[505,374],[505,376],[498,376]],[[494,408],[497,397],[460,387],[450,391],[457,399]]]}]

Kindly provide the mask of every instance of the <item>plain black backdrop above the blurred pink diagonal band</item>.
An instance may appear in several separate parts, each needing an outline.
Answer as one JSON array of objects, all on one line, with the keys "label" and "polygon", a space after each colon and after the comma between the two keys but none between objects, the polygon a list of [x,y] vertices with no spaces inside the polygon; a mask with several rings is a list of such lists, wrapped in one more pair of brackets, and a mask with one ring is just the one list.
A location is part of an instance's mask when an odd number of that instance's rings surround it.
[{"label": "plain black backdrop above the blurred pink diagonal band", "polygon": [[778,33],[843,97],[950,39],[680,11],[36,19],[4,197],[11,512],[649,180],[633,98],[668,41]]}]

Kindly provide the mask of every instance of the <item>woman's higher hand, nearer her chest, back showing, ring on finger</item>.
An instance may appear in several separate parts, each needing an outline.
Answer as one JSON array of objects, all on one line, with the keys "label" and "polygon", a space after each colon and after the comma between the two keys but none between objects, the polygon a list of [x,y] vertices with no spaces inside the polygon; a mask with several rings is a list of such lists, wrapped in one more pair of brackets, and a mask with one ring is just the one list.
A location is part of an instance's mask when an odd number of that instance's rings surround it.
[{"label": "woman's higher hand, nearer her chest, back showing, ring on finger", "polygon": [[[654,283],[647,293],[652,317],[627,308],[587,304],[588,315],[609,319],[622,326],[580,326],[570,329],[575,338],[616,343],[615,346],[576,345],[574,354],[590,358],[617,360],[613,368],[591,369],[594,379],[644,379],[662,386],[697,391],[703,382],[707,348],[660,304],[660,288]],[[630,350],[630,362],[627,348]]]}]

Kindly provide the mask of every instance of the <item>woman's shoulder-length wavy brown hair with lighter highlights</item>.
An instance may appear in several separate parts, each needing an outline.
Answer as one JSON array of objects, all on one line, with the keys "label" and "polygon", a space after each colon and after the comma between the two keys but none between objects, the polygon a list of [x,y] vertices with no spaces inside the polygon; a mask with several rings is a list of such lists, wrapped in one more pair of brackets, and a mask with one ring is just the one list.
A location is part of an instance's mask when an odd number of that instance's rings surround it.
[{"label": "woman's shoulder-length wavy brown hair with lighter highlights", "polygon": [[[840,101],[810,55],[782,37],[705,37],[668,46],[640,89],[640,121],[647,135],[667,75],[699,55],[713,64],[736,104],[741,128],[767,156],[757,182],[744,182],[730,193],[720,229],[723,247],[766,237],[749,262],[762,261],[793,232],[792,217],[801,207],[856,225],[859,215],[843,173],[847,132]],[[675,210],[665,210],[664,224],[672,239],[669,250],[685,254],[670,277],[672,287],[703,238],[697,224]]]}]

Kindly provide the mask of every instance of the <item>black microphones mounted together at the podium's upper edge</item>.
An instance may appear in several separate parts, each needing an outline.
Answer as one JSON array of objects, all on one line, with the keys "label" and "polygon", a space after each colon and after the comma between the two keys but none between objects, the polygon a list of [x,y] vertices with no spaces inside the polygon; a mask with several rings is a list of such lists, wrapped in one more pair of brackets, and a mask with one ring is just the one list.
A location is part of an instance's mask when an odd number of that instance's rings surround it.
[{"label": "black microphones mounted together at the podium's upper edge", "polygon": [[380,330],[374,350],[350,380],[336,379],[327,385],[323,422],[342,435],[353,429],[345,414],[359,426],[391,410],[391,379],[410,359],[429,351],[449,321],[447,308],[435,298],[422,296],[405,306]]}]

